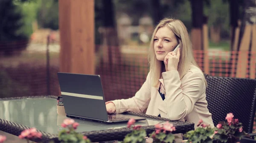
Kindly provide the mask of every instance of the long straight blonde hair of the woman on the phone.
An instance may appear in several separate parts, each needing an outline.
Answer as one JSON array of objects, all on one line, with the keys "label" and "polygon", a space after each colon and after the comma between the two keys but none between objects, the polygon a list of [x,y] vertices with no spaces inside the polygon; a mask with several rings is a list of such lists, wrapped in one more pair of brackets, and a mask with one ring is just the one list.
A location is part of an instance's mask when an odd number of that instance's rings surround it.
[{"label": "long straight blonde hair of the woman on the phone", "polygon": [[[161,20],[154,29],[150,42],[148,60],[150,65],[149,71],[151,72],[151,84],[153,87],[156,87],[159,84],[159,79],[161,78],[162,73],[166,71],[163,61],[157,60],[154,52],[154,36],[157,33],[157,30],[164,26],[169,28],[175,34],[177,42],[180,44],[180,61],[177,69],[180,75],[180,79],[182,79],[183,76],[185,76],[185,74],[189,70],[189,64],[193,64],[199,68],[193,55],[192,43],[189,39],[189,33],[187,31],[186,26],[180,20],[165,18]],[[205,79],[204,81],[205,84],[207,85]]]}]

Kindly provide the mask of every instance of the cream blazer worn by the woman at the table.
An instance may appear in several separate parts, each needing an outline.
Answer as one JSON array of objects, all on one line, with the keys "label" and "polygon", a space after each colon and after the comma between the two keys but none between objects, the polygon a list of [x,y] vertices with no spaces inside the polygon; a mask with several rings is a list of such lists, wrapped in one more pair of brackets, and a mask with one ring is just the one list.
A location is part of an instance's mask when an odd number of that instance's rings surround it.
[{"label": "cream blazer worn by the woman at the table", "polygon": [[161,98],[158,89],[160,86],[152,87],[150,73],[143,83],[142,87],[132,98],[120,99],[113,102],[116,106],[116,113],[126,111],[143,112],[147,109],[147,115],[169,118],[170,120],[188,121],[195,123],[197,128],[198,121],[214,127],[212,114],[207,108],[206,85],[204,83],[204,74],[201,70],[191,64],[191,68],[180,79],[177,70],[171,70],[162,73],[163,79],[159,81],[166,90],[165,100]]}]

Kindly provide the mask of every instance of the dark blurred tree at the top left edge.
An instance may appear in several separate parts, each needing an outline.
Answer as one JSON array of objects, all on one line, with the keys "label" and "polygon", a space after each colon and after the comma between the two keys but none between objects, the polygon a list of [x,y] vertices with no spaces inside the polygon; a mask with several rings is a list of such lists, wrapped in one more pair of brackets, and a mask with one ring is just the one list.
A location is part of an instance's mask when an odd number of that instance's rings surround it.
[{"label": "dark blurred tree at the top left edge", "polygon": [[28,36],[18,32],[24,25],[22,18],[20,8],[12,0],[0,0],[0,52],[5,56],[26,48]]}]

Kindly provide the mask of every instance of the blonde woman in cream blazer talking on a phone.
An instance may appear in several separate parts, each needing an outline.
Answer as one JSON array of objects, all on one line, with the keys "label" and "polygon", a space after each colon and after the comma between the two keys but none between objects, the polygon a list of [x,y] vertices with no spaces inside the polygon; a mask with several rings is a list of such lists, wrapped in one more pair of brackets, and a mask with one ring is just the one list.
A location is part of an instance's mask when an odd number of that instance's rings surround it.
[{"label": "blonde woman in cream blazer talking on a phone", "polygon": [[159,22],[151,39],[149,61],[150,70],[140,90],[132,98],[106,102],[108,113],[148,108],[148,115],[193,122],[195,128],[202,119],[214,127],[207,109],[207,82],[195,62],[183,22],[170,18]]}]

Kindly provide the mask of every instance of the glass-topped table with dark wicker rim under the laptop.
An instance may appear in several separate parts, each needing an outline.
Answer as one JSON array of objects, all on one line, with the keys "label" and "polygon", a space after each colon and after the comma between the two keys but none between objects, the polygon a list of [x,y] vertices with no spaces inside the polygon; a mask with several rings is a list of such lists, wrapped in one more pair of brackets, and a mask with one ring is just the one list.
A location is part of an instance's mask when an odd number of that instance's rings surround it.
[{"label": "glass-topped table with dark wicker rim under the laptop", "polygon": [[[24,129],[35,127],[43,135],[41,142],[50,140],[58,142],[58,132],[63,129],[61,123],[67,117],[57,114],[56,104],[56,96],[0,98],[0,130],[18,136]],[[185,133],[194,129],[194,123],[170,121],[143,113],[125,112],[123,114],[146,118],[144,121],[137,121],[135,125],[143,126],[147,134],[154,131],[155,124],[166,121],[173,123],[176,127],[174,133]],[[126,127],[127,123],[106,124],[74,120],[79,123],[76,131],[86,135],[92,142],[122,140],[132,131]]]}]

